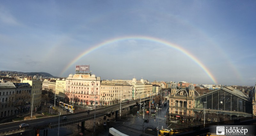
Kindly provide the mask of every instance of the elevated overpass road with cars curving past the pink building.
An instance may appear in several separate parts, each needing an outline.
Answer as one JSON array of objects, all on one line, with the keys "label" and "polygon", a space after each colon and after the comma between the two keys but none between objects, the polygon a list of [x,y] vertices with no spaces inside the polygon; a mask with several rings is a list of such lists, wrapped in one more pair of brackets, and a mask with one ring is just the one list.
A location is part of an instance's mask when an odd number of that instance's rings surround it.
[{"label": "elevated overpass road with cars curving past the pink building", "polygon": [[[130,108],[130,106],[136,105],[136,102],[140,102],[140,100],[132,100],[132,101],[129,101],[129,103],[126,103],[126,102],[121,104],[119,103],[116,105],[94,109],[94,110],[91,110],[90,113],[87,113],[87,111],[75,112],[68,115],[56,115],[52,117],[44,117],[44,118],[38,118],[38,119],[29,119],[29,120],[23,120],[23,121],[17,121],[17,122],[4,123],[4,124],[0,124],[0,136],[22,133],[25,131],[33,131],[33,130],[35,130],[36,134],[39,134],[40,129],[43,129],[46,127],[56,128],[59,126],[59,122],[60,122],[60,126],[67,126],[67,125],[72,125],[72,124],[81,122],[82,128],[84,128],[85,121],[102,117],[112,112],[116,112],[116,116],[117,116],[117,113],[120,110],[120,107],[122,109],[120,114],[121,116],[122,112],[124,113],[124,109],[126,108],[128,109]],[[62,120],[62,116],[67,116],[67,120]],[[29,124],[29,127],[20,129],[19,125],[21,123],[27,123]]]}]

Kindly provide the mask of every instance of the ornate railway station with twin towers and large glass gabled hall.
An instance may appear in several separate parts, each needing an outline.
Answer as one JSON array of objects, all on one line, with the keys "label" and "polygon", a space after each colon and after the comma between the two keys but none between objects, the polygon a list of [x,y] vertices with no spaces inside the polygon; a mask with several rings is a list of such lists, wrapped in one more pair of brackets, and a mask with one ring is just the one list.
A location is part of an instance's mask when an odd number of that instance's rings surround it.
[{"label": "ornate railway station with twin towers and large glass gabled hall", "polygon": [[[251,94],[255,98],[255,91]],[[256,112],[256,103],[249,96],[229,86],[199,95],[193,84],[184,88],[172,84],[169,101],[170,119],[202,120],[205,110],[205,120],[217,122],[252,116],[254,109]]]}]

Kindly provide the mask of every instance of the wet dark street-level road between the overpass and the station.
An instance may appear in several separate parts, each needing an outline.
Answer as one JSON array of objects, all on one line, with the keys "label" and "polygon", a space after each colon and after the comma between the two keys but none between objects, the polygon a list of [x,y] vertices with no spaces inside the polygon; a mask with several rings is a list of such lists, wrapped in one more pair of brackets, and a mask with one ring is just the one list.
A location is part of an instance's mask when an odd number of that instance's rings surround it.
[{"label": "wet dark street-level road between the overpass and the station", "polygon": [[[130,112],[126,114],[122,114],[121,119],[118,115],[118,117],[116,118],[116,116],[111,116],[111,117],[107,117],[107,119],[110,119],[110,122],[107,123],[107,126],[103,126],[102,122],[106,122],[106,119],[103,119],[103,117],[97,118],[96,119],[96,124],[98,124],[98,122],[100,122],[100,126],[96,126],[95,127],[95,133],[94,129],[93,129],[93,122],[94,120],[88,120],[85,122],[85,126],[87,131],[84,132],[85,136],[92,136],[97,135],[97,136],[105,136],[108,135],[109,133],[109,128],[114,127],[115,129],[117,129],[118,131],[130,135],[130,136],[139,136],[140,134],[145,134],[148,136],[153,136],[153,135],[157,135],[157,133],[152,133],[152,132],[145,132],[145,128],[146,127],[157,127],[158,123],[159,123],[159,127],[161,128],[163,126],[163,128],[180,128],[176,127],[176,124],[166,124],[165,123],[165,114],[168,110],[168,105],[166,106],[162,106],[160,108],[162,108],[159,112],[159,116],[158,117],[154,117],[154,116],[150,116],[149,114],[146,114],[145,112],[145,116],[144,119],[149,119],[149,122],[144,122],[143,123],[143,115],[138,115],[137,111],[139,111],[140,107],[134,108],[132,109]],[[141,109],[142,110],[142,109]],[[186,127],[186,126],[184,126]],[[75,133],[77,134],[77,136],[79,135],[79,133],[81,132],[81,128],[77,128],[77,126],[73,125],[72,127],[75,131]]]}]

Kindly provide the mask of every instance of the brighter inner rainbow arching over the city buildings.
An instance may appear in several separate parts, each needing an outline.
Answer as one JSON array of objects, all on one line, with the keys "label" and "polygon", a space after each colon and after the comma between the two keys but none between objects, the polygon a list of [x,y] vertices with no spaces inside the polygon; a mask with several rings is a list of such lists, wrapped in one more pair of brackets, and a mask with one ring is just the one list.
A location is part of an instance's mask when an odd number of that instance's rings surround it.
[{"label": "brighter inner rainbow arching over the city buildings", "polygon": [[66,72],[68,70],[68,68],[70,68],[72,65],[74,65],[80,58],[84,57],[85,55],[103,47],[103,46],[107,46],[109,44],[115,43],[115,42],[119,42],[119,41],[125,41],[125,40],[147,40],[147,41],[152,41],[152,42],[156,42],[156,43],[160,43],[160,44],[164,44],[166,46],[172,47],[182,53],[184,53],[185,55],[187,55],[189,58],[191,58],[197,65],[199,65],[204,72],[209,76],[209,78],[211,78],[211,80],[214,82],[214,84],[216,85],[216,79],[213,77],[212,73],[206,68],[205,65],[203,65],[202,62],[200,62],[195,56],[193,56],[190,52],[186,51],[185,49],[169,43],[167,41],[158,39],[158,38],[154,38],[154,37],[146,37],[146,36],[126,36],[126,37],[118,37],[118,38],[113,38],[113,39],[109,39],[107,41],[104,41],[100,44],[97,44],[95,46],[92,46],[91,48],[85,50],[84,52],[82,52],[80,55],[78,55],[74,60],[72,60],[60,73],[60,75],[62,76],[64,72]]}]

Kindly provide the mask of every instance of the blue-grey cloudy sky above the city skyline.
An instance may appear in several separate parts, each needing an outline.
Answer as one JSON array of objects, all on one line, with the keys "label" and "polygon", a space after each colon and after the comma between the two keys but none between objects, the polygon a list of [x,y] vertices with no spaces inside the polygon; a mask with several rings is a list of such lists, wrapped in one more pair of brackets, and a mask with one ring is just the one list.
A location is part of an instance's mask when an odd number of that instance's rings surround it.
[{"label": "blue-grey cloudy sky above the city skyline", "polygon": [[255,85],[256,1],[0,1],[0,71]]}]

